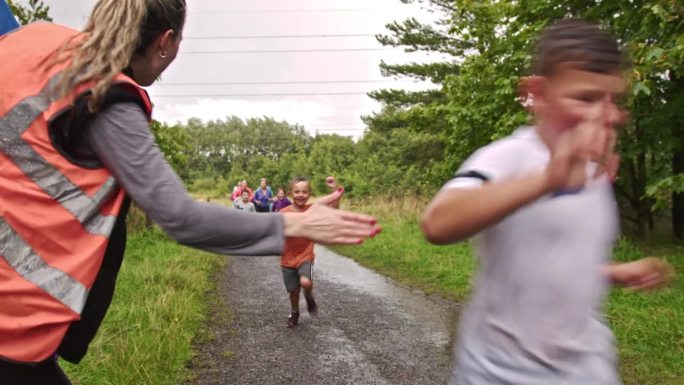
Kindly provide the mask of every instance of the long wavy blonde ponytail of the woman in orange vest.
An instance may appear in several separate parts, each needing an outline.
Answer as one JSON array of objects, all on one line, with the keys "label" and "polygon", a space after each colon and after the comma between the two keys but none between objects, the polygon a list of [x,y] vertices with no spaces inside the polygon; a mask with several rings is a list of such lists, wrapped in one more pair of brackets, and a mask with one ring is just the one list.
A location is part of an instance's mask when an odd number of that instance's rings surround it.
[{"label": "long wavy blonde ponytail of the woman in orange vest", "polygon": [[[83,82],[94,81],[88,109],[101,106],[112,79],[128,67],[140,42],[145,18],[145,0],[100,0],[95,5],[83,33],[60,47],[56,61],[71,59],[55,87],[65,96]],[[81,39],[85,34],[86,38]]]}]

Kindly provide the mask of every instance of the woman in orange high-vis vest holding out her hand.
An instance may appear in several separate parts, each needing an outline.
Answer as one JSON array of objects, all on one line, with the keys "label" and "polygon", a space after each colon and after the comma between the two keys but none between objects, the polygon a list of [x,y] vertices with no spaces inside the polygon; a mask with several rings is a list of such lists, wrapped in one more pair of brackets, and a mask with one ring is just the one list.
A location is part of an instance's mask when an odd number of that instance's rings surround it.
[{"label": "woman in orange high-vis vest holding out her hand", "polygon": [[[0,37],[0,378],[69,384],[105,316],[135,201],[185,245],[278,255],[287,237],[359,243],[373,218],[256,215],[193,200],[149,129],[148,86],[178,53],[184,0],[100,0],[82,32],[34,23]],[[240,223],[240,226],[225,226]]]}]

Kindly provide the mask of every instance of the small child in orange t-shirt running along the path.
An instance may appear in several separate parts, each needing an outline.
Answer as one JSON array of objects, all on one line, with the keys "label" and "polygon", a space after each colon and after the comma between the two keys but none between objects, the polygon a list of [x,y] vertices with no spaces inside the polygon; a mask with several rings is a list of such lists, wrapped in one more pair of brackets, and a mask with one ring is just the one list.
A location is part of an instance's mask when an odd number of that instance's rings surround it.
[{"label": "small child in orange t-shirt running along the path", "polygon": [[[332,176],[325,179],[325,184],[331,192],[337,189],[337,182]],[[342,189],[340,187],[340,190]],[[290,185],[290,192],[292,193],[292,205],[282,208],[281,213],[303,212],[311,207],[311,204],[308,203],[311,197],[311,183],[308,179],[304,177],[295,178]],[[328,206],[339,208],[339,199],[328,203]],[[316,316],[318,312],[318,304],[313,297],[313,264],[315,259],[313,248],[314,242],[308,239],[288,238],[285,241],[280,266],[292,308],[287,319],[287,327],[289,328],[297,326],[299,322],[299,293],[302,288],[304,289],[307,311],[311,316]]]}]

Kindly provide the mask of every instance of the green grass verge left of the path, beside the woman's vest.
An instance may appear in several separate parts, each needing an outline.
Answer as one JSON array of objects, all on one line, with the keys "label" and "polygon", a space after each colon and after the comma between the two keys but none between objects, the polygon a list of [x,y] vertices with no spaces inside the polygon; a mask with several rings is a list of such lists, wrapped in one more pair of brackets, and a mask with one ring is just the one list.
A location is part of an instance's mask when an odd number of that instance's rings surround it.
[{"label": "green grass verge left of the path, beside the woman's vest", "polygon": [[207,313],[212,273],[225,258],[157,232],[129,237],[116,294],[88,354],[62,362],[75,385],[179,384]]}]

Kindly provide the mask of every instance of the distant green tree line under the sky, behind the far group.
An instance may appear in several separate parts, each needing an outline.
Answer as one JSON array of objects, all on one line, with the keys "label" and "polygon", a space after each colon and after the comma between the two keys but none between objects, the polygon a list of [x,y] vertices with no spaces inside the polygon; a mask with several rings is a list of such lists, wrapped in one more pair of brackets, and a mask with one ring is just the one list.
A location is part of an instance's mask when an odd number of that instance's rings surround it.
[{"label": "distant green tree line under the sky, behind the far group", "polygon": [[[434,191],[442,164],[429,162],[433,151],[421,136],[367,132],[361,139],[311,135],[304,127],[271,118],[238,117],[173,126],[153,123],[169,163],[196,192],[230,194],[239,180],[256,185],[268,178],[287,187],[309,177],[314,193],[327,192],[325,177],[335,175],[352,197],[421,195]],[[265,134],[264,134],[265,133]]]}]

